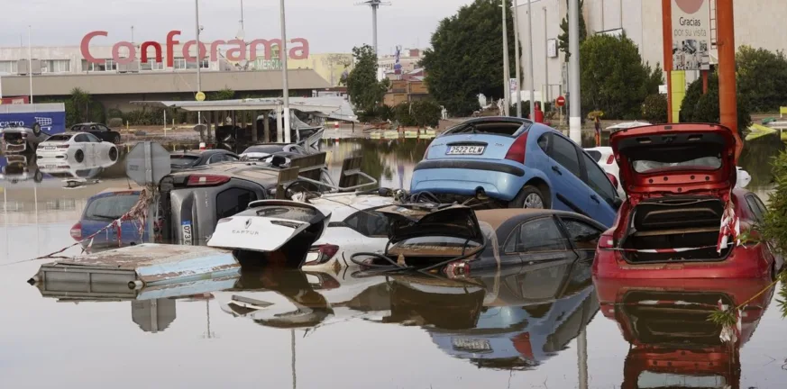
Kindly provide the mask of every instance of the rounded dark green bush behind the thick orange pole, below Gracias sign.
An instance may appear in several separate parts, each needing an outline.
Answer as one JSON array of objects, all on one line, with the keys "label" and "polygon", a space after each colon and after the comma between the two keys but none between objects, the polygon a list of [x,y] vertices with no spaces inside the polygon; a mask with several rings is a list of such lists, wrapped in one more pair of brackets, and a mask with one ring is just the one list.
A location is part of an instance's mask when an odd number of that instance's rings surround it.
[{"label": "rounded dark green bush behind the thick orange pole, below Gracias sign", "polygon": [[[697,78],[686,89],[681,103],[681,122],[719,122],[718,74],[708,75],[708,93],[702,94],[702,78]],[[749,102],[745,95],[737,93],[737,129],[743,133],[752,124]]]}]

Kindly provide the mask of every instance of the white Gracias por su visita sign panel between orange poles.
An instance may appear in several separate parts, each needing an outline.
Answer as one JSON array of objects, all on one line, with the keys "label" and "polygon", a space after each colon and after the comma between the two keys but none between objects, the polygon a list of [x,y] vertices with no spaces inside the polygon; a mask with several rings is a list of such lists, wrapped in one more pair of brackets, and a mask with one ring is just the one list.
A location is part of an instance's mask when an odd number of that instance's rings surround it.
[{"label": "white Gracias por su visita sign panel between orange poles", "polygon": [[672,0],[673,70],[700,70],[710,63],[710,0]]}]

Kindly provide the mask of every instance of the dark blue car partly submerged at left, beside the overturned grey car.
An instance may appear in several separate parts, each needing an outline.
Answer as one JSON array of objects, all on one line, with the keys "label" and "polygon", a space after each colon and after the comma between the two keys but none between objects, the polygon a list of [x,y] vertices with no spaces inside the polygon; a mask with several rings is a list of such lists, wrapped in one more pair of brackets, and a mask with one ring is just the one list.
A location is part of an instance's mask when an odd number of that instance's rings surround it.
[{"label": "dark blue car partly submerged at left, beside the overturned grey car", "polygon": [[[139,198],[140,191],[132,189],[106,189],[104,192],[90,197],[87,199],[85,211],[82,212],[82,218],[71,227],[71,238],[77,241],[87,239],[90,235],[128,213]],[[117,232],[116,228],[109,228],[96,235],[93,238],[92,249],[117,248]],[[150,242],[149,237],[147,228],[144,229],[142,235],[140,234],[140,222],[126,221],[121,223],[120,246]],[[83,242],[82,247],[87,247],[89,243],[89,240]]]}]

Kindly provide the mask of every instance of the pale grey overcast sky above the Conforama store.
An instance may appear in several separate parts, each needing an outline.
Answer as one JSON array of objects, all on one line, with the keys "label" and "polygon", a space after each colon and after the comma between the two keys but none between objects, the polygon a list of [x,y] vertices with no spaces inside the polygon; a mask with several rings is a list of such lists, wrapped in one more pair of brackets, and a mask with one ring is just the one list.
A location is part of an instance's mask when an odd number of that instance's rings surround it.
[{"label": "pale grey overcast sky above the Conforama store", "polygon": [[[350,52],[371,44],[371,9],[361,0],[285,0],[287,35],[306,38],[315,53]],[[380,53],[401,44],[426,47],[437,23],[471,0],[390,0],[378,14]],[[233,39],[241,19],[241,0],[199,0],[199,23],[205,41]],[[193,39],[194,0],[0,0],[3,33],[0,46],[27,45],[32,26],[33,46],[78,46],[87,33],[109,32],[95,44],[117,41],[166,41],[167,32],[180,30],[180,41]],[[247,41],[277,38],[279,0],[243,0]],[[15,33],[14,33],[15,32]]]}]

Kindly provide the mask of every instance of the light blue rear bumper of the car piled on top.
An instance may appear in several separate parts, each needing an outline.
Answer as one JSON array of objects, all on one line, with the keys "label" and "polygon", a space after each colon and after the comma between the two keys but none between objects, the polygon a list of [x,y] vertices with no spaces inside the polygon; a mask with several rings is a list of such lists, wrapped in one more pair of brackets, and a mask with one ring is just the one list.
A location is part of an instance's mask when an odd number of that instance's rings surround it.
[{"label": "light blue rear bumper of the car piled on top", "polygon": [[413,171],[410,192],[476,195],[510,201],[529,178],[526,167],[477,160],[426,160]]}]

